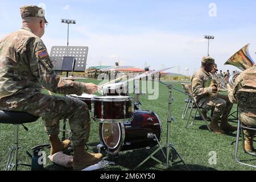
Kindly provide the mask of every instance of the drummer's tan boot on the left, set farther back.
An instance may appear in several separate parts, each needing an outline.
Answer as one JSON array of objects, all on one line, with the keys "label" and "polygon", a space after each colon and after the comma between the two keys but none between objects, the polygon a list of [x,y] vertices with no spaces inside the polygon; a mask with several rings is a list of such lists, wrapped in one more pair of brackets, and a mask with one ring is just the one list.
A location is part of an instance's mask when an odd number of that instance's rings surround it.
[{"label": "drummer's tan boot on the left, set farther back", "polygon": [[58,135],[49,135],[49,141],[51,142],[51,155],[67,150],[71,144],[70,140],[64,140],[61,142]]}]

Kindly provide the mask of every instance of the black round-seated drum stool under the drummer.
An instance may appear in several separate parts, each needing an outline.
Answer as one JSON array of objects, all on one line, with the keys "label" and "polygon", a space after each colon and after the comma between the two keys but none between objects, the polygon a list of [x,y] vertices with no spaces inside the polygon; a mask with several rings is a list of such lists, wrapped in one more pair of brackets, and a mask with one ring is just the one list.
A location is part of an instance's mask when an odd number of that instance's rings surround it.
[{"label": "black round-seated drum stool under the drummer", "polygon": [[19,150],[19,144],[18,144],[18,130],[19,125],[22,125],[24,129],[27,131],[27,127],[23,125],[23,123],[31,123],[38,120],[39,117],[35,117],[34,115],[19,112],[19,111],[3,111],[0,110],[0,123],[5,124],[13,124],[14,125],[14,143],[10,148],[10,154],[6,163],[6,171],[9,171],[10,169],[15,168],[15,171],[17,171],[18,166],[28,166],[26,164],[19,164],[18,163],[18,150]]}]

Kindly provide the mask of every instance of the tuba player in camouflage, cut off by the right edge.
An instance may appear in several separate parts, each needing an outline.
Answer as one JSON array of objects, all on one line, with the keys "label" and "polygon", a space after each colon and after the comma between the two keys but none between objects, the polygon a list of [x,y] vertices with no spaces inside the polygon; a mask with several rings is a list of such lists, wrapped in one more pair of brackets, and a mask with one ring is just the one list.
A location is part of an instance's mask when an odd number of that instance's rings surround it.
[{"label": "tuba player in camouflage, cut off by the right edge", "polygon": [[[234,82],[233,88],[228,85],[228,96],[233,103],[238,102],[240,120],[243,125],[256,128],[256,64],[240,73]],[[253,137],[256,133],[244,130],[244,134],[245,150],[255,152]]]}]

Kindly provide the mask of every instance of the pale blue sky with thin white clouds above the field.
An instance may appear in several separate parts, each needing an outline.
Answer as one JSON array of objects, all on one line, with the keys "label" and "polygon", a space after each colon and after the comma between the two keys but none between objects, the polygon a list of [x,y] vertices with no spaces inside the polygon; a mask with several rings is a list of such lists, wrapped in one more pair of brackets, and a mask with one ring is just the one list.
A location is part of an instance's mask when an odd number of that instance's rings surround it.
[{"label": "pale blue sky with thin white clouds above the field", "polygon": [[[216,5],[216,16],[209,16],[210,3]],[[43,5],[49,22],[42,37],[48,51],[52,46],[67,44],[67,25],[61,18],[76,19],[71,25],[69,46],[88,46],[91,65],[134,65],[151,69],[179,66],[170,72],[189,75],[200,67],[207,55],[204,35],[214,35],[210,56],[220,69],[238,49],[250,45],[251,57],[256,51],[256,1],[1,1],[0,38],[21,26],[19,7]]]}]

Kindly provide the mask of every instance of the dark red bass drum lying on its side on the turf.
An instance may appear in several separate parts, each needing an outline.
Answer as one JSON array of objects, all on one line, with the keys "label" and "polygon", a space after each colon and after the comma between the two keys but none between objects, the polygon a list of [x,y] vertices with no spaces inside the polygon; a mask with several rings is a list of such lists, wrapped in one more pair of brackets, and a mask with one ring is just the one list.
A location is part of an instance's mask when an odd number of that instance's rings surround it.
[{"label": "dark red bass drum lying on its side on the turf", "polygon": [[100,123],[101,144],[109,154],[119,151],[153,147],[162,135],[162,123],[153,111],[135,111],[133,121],[123,123]]}]

